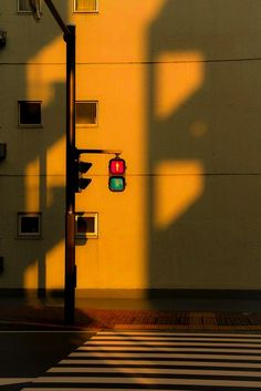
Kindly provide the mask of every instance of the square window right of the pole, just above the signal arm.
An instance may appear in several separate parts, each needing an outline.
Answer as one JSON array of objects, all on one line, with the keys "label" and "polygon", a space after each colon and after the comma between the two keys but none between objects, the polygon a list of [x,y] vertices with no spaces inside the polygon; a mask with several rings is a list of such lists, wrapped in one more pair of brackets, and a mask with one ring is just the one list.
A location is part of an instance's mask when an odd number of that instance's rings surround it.
[{"label": "square window right of the pole, just above the signal arm", "polygon": [[97,101],[77,101],[75,117],[77,126],[97,126]]}]

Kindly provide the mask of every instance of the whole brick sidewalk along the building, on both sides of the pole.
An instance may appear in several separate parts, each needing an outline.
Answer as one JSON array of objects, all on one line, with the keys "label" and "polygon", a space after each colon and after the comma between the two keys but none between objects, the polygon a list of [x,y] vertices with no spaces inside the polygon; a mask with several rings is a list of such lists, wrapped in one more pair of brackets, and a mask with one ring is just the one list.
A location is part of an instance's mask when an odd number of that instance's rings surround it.
[{"label": "whole brick sidewalk along the building, on both sides of the pole", "polygon": [[[63,326],[63,307],[44,305],[1,306],[0,322]],[[261,312],[174,311],[135,309],[76,308],[75,327],[101,329],[153,330],[247,330],[261,331]]]}]

